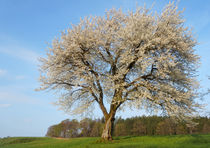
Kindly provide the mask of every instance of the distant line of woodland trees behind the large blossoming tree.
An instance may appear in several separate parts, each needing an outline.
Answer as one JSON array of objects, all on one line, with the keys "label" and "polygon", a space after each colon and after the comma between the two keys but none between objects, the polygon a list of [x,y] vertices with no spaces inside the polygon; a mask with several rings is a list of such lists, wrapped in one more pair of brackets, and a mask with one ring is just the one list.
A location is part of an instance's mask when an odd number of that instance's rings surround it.
[{"label": "distant line of woodland trees behind the large blossoming tree", "polygon": [[[85,118],[80,122],[66,119],[57,125],[48,128],[48,137],[99,137],[101,136],[104,118],[92,120]],[[194,119],[197,126],[187,127],[184,122],[174,122],[168,117],[142,116],[133,118],[117,118],[115,121],[114,136],[141,136],[141,135],[180,135],[180,134],[207,134],[210,133],[210,118]]]}]

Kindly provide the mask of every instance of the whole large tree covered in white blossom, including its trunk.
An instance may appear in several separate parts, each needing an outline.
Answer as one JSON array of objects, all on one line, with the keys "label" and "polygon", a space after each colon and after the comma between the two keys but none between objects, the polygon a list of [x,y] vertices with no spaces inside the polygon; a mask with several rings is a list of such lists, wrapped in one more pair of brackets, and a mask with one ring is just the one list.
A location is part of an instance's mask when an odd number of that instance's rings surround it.
[{"label": "whole large tree covered in white blossom, including its trunk", "polygon": [[102,138],[108,140],[116,111],[126,106],[186,120],[199,106],[199,57],[181,14],[169,3],[160,14],[137,7],[81,19],[41,59],[40,89],[60,92],[58,104],[75,114],[97,103],[106,121]]}]

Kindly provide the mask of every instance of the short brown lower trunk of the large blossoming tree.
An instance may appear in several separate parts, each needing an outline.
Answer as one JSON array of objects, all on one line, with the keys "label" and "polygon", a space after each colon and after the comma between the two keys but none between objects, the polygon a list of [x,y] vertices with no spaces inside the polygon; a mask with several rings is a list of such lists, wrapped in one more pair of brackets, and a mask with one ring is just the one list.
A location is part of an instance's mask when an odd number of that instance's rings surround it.
[{"label": "short brown lower trunk of the large blossoming tree", "polygon": [[105,125],[103,129],[103,133],[101,135],[102,140],[105,141],[111,141],[112,140],[112,135],[113,135],[113,130],[114,130],[114,118],[115,113],[112,113],[108,116],[108,118],[105,118]]}]

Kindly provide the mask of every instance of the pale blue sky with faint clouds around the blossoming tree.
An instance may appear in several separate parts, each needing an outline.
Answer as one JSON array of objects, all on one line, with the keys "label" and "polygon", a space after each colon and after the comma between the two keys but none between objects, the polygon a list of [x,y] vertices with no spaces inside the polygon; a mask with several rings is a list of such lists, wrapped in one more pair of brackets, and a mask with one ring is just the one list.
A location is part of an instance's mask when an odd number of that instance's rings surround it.
[{"label": "pale blue sky with faint clouds around the blossoming tree", "polygon": [[[104,15],[105,10],[138,5],[160,11],[168,0],[0,0],[0,137],[44,136],[50,125],[66,118],[81,119],[57,110],[50,92],[36,92],[39,87],[38,57],[45,55],[47,44],[60,32],[89,15]],[[198,69],[201,86],[210,88],[210,1],[181,0],[186,25],[198,39],[196,53],[201,56]],[[203,101],[210,104],[208,96]],[[205,114],[210,112],[206,106]],[[96,108],[97,110],[97,108]],[[95,114],[101,117],[100,111]],[[126,111],[117,116],[142,115],[142,111]]]}]

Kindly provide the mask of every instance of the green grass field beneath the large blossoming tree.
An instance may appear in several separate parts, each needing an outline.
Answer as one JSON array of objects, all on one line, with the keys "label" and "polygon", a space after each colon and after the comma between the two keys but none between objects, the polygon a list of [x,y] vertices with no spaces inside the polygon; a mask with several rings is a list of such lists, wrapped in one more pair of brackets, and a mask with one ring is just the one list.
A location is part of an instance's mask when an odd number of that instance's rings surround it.
[{"label": "green grass field beneath the large blossoming tree", "polygon": [[108,143],[99,139],[3,138],[0,148],[210,148],[210,135],[115,137]]}]

